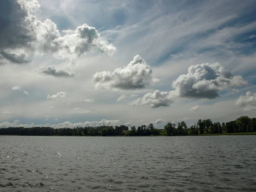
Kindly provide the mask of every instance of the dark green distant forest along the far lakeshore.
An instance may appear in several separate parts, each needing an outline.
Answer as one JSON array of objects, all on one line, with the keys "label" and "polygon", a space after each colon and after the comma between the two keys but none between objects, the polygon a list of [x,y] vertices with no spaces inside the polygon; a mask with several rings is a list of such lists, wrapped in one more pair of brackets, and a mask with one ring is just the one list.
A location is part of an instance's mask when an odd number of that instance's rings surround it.
[{"label": "dark green distant forest along the far lakeshore", "polygon": [[181,136],[198,134],[222,134],[222,133],[244,133],[256,132],[256,118],[241,116],[238,119],[226,123],[212,122],[211,119],[199,119],[190,128],[186,122],[167,123],[163,129],[157,129],[152,123],[141,125],[131,129],[125,125],[120,126],[97,126],[77,128],[50,128],[50,127],[9,127],[0,128],[0,135],[24,135],[24,136]]}]

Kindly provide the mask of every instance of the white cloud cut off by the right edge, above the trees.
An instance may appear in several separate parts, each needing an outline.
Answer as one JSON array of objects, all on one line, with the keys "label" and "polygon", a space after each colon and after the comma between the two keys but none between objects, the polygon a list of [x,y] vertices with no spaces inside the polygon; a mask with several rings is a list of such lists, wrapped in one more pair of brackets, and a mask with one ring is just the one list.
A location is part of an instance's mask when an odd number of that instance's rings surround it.
[{"label": "white cloud cut off by the right edge, above the trees", "polygon": [[240,96],[236,105],[244,107],[244,111],[256,110],[256,93],[247,91],[245,96]]}]

